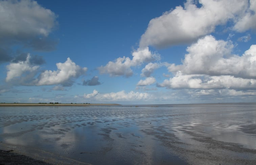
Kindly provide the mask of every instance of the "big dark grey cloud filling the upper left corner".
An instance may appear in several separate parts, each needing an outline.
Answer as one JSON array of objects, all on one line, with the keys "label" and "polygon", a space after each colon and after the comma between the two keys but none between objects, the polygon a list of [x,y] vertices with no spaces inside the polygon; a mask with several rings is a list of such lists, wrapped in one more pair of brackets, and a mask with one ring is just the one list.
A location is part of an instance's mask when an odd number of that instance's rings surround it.
[{"label": "big dark grey cloud filling the upper left corner", "polygon": [[39,51],[50,51],[57,44],[49,36],[56,27],[57,15],[31,0],[0,1],[0,62],[17,56],[12,48],[20,45]]}]

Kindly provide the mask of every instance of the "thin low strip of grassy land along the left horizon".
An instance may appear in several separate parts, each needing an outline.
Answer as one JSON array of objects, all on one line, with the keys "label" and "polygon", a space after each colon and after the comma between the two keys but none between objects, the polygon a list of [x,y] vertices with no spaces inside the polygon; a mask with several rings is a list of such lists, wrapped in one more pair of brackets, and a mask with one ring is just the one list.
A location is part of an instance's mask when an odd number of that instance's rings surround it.
[{"label": "thin low strip of grassy land along the left horizon", "polygon": [[15,107],[15,106],[110,106],[120,104],[41,104],[41,103],[0,103],[0,107]]}]

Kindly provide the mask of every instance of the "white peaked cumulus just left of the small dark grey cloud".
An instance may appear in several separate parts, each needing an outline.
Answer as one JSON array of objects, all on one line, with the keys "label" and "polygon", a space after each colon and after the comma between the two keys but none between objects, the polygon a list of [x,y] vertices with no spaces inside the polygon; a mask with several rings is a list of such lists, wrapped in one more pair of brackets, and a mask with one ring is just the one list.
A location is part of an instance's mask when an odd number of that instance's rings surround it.
[{"label": "white peaked cumulus just left of the small dark grey cloud", "polygon": [[64,63],[56,63],[57,70],[50,71],[46,70],[42,72],[39,76],[37,85],[54,85],[54,84],[64,84],[71,78],[77,78],[87,71],[86,67],[81,68],[76,65],[70,58]]}]

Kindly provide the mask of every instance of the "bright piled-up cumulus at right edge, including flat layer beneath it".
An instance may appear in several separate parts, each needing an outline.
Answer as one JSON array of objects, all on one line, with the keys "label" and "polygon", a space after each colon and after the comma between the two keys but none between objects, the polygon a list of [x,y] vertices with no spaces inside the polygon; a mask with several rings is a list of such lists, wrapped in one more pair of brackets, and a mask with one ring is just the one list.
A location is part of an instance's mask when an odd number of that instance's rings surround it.
[{"label": "bright piled-up cumulus at right edge, including flat layer beneath it", "polygon": [[229,94],[253,94],[247,90],[256,89],[256,45],[252,45],[242,56],[231,54],[232,49],[230,42],[205,36],[187,48],[188,54],[181,65],[171,64],[168,67],[169,72],[175,75],[158,86],[170,89],[230,89],[232,92]]}]

